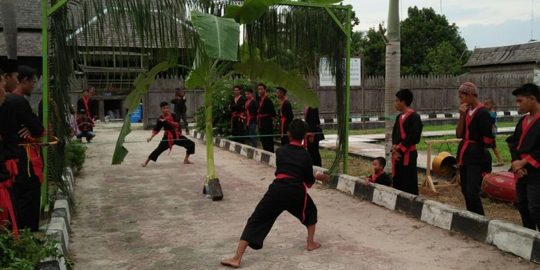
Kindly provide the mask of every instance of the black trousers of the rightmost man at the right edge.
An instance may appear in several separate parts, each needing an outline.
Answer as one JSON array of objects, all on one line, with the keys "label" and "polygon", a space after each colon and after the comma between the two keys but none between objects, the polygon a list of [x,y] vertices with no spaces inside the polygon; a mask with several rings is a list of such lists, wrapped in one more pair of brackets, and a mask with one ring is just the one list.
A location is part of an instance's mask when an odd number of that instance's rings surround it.
[{"label": "black trousers of the rightmost man at the right edge", "polygon": [[539,179],[522,178],[516,183],[517,208],[521,215],[521,222],[523,227],[532,230],[540,228],[540,183],[537,183],[538,181]]}]

